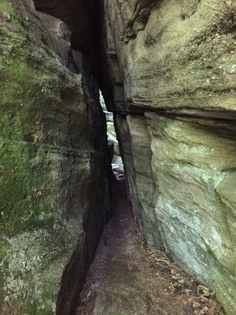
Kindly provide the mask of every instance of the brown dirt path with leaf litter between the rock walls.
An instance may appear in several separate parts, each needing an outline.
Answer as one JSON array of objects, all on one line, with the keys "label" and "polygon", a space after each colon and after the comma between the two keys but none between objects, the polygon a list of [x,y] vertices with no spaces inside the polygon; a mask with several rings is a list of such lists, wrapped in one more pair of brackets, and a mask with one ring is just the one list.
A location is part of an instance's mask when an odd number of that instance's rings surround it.
[{"label": "brown dirt path with leaf litter between the rock walls", "polygon": [[207,288],[163,253],[145,246],[124,181],[117,181],[112,190],[114,216],[105,227],[73,315],[224,314]]}]

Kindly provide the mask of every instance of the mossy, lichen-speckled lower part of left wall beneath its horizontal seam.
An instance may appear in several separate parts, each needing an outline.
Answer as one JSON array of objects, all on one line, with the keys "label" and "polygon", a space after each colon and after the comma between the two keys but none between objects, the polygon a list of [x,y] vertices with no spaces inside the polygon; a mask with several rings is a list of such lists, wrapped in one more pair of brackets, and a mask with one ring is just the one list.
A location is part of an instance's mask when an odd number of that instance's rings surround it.
[{"label": "mossy, lichen-speckled lower part of left wall beneath its horizontal seam", "polygon": [[16,141],[2,142],[0,155],[0,303],[14,309],[18,301],[27,315],[53,314],[61,274],[81,233],[58,204],[57,174],[67,158]]}]

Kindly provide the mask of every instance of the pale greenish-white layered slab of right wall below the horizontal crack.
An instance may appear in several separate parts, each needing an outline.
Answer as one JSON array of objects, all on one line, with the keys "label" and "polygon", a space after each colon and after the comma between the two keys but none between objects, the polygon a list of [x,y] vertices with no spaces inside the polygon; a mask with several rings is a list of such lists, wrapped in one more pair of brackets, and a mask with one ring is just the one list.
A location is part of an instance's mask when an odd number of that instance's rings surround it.
[{"label": "pale greenish-white layered slab of right wall below the horizontal crack", "polygon": [[236,211],[235,194],[230,193],[235,185],[235,125],[146,116],[152,134],[152,169],[160,190],[155,210],[165,250],[214,288],[227,301],[230,314],[236,300]]}]

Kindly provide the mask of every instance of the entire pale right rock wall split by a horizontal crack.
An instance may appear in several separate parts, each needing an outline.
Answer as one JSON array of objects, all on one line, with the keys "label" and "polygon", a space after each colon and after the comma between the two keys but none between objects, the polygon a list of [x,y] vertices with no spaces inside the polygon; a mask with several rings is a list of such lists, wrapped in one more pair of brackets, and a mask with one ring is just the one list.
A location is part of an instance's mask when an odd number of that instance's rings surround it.
[{"label": "entire pale right rock wall split by a horizontal crack", "polygon": [[134,216],[233,315],[236,3],[105,0],[103,16],[101,85]]}]

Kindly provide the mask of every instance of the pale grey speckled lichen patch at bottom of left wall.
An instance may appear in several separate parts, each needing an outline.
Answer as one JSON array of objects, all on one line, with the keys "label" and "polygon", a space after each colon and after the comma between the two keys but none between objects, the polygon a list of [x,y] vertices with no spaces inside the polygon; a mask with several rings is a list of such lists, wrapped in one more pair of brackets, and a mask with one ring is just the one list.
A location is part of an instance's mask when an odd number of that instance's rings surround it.
[{"label": "pale grey speckled lichen patch at bottom of left wall", "polygon": [[71,239],[80,234],[77,225],[64,221],[60,229],[34,230],[10,239],[3,259],[8,266],[3,268],[3,298],[10,307],[17,300],[23,314],[54,314],[61,273],[73,251]]}]

